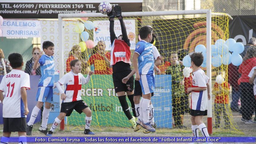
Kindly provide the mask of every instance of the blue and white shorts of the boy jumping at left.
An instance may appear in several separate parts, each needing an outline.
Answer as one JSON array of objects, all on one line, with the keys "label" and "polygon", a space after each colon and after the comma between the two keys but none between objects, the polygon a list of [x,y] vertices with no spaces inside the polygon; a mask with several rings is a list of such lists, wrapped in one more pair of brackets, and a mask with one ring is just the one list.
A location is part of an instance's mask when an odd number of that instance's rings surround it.
[{"label": "blue and white shorts of the boy jumping at left", "polygon": [[38,88],[36,94],[36,101],[39,102],[53,102],[53,87],[50,86],[42,86]]}]

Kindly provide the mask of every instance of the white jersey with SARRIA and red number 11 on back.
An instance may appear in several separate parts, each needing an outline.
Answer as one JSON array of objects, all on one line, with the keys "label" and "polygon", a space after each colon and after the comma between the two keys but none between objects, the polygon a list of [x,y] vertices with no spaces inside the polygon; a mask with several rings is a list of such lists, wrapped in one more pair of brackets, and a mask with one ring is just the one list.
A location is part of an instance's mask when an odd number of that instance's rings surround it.
[{"label": "white jersey with SARRIA and red number 11 on back", "polygon": [[5,92],[5,98],[3,100],[4,118],[26,118],[24,116],[24,103],[20,94],[22,87],[30,89],[29,74],[13,69],[3,77],[0,90]]}]

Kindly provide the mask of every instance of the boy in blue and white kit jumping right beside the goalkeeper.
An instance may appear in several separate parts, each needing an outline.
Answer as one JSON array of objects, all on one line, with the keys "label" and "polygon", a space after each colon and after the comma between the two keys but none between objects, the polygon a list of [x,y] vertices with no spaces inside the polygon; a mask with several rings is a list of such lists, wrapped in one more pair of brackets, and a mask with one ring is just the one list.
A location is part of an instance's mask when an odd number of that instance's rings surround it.
[{"label": "boy in blue and white kit jumping right beside the goalkeeper", "polygon": [[140,29],[139,35],[142,40],[136,44],[133,63],[136,64],[138,59],[138,65],[134,65],[135,80],[140,82],[142,88],[140,109],[143,114],[139,115],[136,123],[150,132],[155,132],[148,120],[151,93],[154,92],[155,88],[153,45],[149,43],[152,40],[152,31],[153,29],[148,26]]}]

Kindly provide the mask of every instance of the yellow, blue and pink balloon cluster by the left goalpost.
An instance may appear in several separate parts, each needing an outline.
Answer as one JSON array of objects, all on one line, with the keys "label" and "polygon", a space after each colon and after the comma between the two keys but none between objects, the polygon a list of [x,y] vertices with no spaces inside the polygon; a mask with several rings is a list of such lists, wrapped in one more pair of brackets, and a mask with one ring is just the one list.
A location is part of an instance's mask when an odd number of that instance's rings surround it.
[{"label": "yellow, blue and pink balloon cluster by the left goalpost", "polygon": [[[86,13],[86,12],[81,12]],[[81,22],[79,22],[73,29],[74,32],[77,32],[80,34],[80,38],[82,42],[80,42],[78,45],[81,47],[81,52],[84,52],[87,48],[92,49],[94,47],[94,42],[89,39],[89,33],[88,30],[92,30],[94,28],[94,24],[92,21],[88,21],[88,18],[80,18]],[[86,31],[85,31],[86,30]]]}]

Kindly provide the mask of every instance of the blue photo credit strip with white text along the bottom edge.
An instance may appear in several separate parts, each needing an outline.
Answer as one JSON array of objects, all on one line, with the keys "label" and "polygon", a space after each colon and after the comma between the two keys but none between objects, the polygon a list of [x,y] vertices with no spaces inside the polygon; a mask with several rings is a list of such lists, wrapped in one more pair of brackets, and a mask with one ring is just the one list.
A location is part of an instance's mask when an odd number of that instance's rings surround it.
[{"label": "blue photo credit strip with white text along the bottom edge", "polygon": [[[9,142],[18,142],[19,137],[10,137]],[[27,142],[256,142],[256,137],[27,137]]]}]

